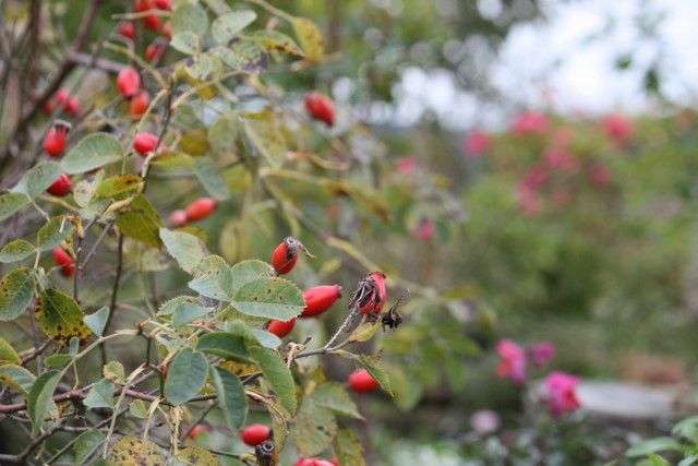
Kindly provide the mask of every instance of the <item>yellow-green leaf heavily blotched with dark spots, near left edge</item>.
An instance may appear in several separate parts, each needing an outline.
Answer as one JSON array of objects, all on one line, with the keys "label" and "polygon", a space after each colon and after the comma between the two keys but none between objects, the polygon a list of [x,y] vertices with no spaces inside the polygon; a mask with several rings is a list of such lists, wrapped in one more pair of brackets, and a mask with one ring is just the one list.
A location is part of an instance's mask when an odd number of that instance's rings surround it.
[{"label": "yellow-green leaf heavily blotched with dark spots, near left edge", "polygon": [[86,343],[92,331],[83,322],[85,314],[77,302],[70,296],[57,289],[48,288],[39,294],[36,301],[36,318],[41,331],[61,344],[67,344],[72,337]]}]

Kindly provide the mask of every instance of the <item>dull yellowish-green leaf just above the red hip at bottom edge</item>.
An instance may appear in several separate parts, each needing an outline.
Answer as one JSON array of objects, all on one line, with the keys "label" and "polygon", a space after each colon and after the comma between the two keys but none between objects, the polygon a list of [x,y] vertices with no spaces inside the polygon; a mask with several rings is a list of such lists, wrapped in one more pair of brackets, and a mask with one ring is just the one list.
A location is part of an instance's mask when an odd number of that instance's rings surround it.
[{"label": "dull yellowish-green leaf just above the red hip at bottom edge", "polygon": [[304,399],[296,417],[296,446],[302,456],[326,450],[337,434],[337,419],[326,408]]}]

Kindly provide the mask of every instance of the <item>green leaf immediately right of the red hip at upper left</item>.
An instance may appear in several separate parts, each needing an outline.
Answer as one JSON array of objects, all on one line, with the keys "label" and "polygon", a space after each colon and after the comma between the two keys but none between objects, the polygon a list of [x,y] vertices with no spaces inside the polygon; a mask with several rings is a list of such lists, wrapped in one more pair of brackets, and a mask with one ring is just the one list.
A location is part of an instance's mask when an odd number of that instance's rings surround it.
[{"label": "green leaf immediately right of the red hip at upper left", "polygon": [[89,134],[69,151],[61,164],[69,175],[84,174],[107,164],[121,160],[123,148],[121,143],[111,134]]}]

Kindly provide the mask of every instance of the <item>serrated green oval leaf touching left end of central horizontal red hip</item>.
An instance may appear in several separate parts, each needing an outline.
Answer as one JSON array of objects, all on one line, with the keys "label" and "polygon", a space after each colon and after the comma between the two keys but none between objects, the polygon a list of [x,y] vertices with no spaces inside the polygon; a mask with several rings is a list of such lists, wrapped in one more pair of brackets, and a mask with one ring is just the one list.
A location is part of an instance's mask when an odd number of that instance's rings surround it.
[{"label": "serrated green oval leaf touching left end of central horizontal red hip", "polygon": [[291,282],[273,277],[258,278],[241,286],[232,306],[243,314],[286,322],[303,311],[305,300]]}]

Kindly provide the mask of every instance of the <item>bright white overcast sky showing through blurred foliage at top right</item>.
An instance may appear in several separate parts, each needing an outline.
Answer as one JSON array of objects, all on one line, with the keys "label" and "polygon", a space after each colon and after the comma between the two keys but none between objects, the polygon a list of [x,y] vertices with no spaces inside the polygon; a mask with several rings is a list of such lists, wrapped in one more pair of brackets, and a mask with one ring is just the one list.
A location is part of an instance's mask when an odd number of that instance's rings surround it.
[{"label": "bright white overcast sky showing through blurred foliage at top right", "polygon": [[[496,12],[498,0],[479,3]],[[642,37],[636,22],[640,4],[648,3],[666,15],[659,26],[662,91],[674,101],[696,104],[698,0],[547,3],[546,20],[516,26],[501,50],[492,76],[504,95],[521,106],[564,113],[651,111],[652,101],[642,93],[642,77],[659,47]],[[627,52],[633,52],[635,65],[619,71],[615,61]],[[438,70],[429,76],[422,70],[407,70],[398,86],[401,105],[397,120],[409,124],[430,108],[453,129],[505,122],[501,108],[482,107],[453,83],[453,76]]]}]

